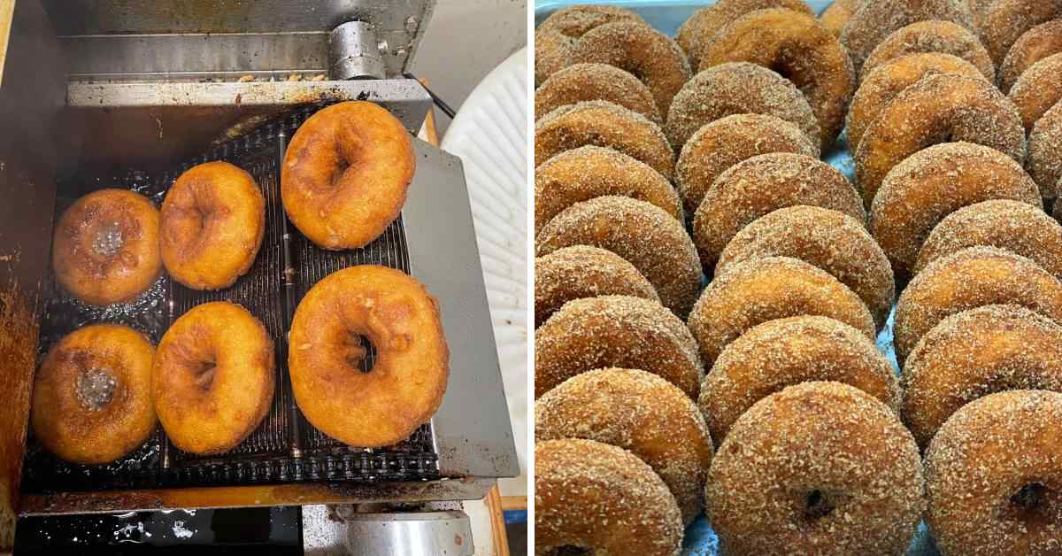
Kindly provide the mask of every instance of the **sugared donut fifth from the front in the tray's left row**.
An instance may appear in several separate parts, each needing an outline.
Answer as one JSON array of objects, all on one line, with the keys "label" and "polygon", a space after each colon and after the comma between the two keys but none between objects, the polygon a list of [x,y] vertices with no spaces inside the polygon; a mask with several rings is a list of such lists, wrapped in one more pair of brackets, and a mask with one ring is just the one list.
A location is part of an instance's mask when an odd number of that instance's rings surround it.
[{"label": "sugared donut fifth from the front in the tray's left row", "polygon": [[697,300],[697,249],[682,223],[656,206],[627,197],[576,203],[542,229],[535,252],[542,256],[578,245],[607,249],[629,260],[675,315],[685,316]]}]

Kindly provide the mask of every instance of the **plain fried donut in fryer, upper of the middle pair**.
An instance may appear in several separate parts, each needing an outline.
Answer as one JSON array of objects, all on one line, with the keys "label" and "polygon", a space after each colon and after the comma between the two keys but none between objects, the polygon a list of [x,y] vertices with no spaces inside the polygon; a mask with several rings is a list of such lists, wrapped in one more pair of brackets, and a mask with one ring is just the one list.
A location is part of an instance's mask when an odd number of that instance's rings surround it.
[{"label": "plain fried donut in fryer, upper of the middle pair", "polygon": [[193,166],[166,192],[159,249],[173,280],[221,289],[251,269],[266,235],[266,198],[226,162]]}]

